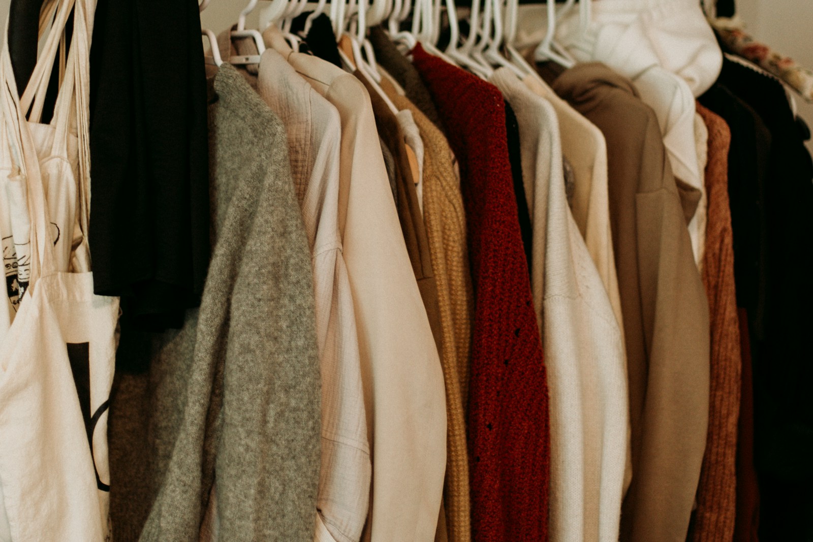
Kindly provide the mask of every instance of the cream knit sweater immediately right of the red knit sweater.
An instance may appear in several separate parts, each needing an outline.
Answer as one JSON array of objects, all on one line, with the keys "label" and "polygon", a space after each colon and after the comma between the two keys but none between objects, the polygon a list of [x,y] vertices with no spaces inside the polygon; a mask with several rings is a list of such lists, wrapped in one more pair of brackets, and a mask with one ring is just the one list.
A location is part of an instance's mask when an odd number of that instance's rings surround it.
[{"label": "cream knit sweater immediately right of the red knit sweater", "polygon": [[618,540],[627,459],[624,339],[565,194],[554,107],[502,67],[533,223],[531,286],[550,393],[550,540]]}]

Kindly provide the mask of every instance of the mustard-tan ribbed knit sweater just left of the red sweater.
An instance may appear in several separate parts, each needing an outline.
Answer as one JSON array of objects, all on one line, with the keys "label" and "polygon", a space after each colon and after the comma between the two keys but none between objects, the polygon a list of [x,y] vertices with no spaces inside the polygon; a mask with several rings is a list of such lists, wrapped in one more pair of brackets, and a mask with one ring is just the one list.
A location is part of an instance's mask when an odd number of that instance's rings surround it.
[{"label": "mustard-tan ribbed knit sweater just left of the red sweater", "polygon": [[391,96],[412,112],[424,141],[424,223],[432,251],[441,312],[441,363],[446,381],[446,480],[443,498],[450,542],[472,540],[466,448],[466,388],[472,351],[472,275],[466,246],[463,196],[454,176],[454,155],[440,130],[409,99]]}]

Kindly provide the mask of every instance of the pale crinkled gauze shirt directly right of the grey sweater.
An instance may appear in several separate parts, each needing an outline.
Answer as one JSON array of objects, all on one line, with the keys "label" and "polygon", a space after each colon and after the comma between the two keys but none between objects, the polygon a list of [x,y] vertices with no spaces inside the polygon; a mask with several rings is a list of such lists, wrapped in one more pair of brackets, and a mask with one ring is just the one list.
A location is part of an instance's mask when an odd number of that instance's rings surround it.
[{"label": "pale crinkled gauze shirt directly right of the grey sweater", "polygon": [[339,235],[341,121],[276,50],[263,53],[257,92],[288,135],[293,184],[311,244],[322,375],[322,465],[315,540],[359,540],[372,463],[353,297]]}]

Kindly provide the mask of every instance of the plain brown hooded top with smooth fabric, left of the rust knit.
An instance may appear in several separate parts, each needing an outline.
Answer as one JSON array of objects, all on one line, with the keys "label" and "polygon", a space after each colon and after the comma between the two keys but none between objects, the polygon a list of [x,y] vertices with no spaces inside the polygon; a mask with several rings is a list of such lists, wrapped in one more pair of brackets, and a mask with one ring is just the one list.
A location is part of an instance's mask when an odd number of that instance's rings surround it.
[{"label": "plain brown hooded top with smooth fabric, left of the rust knit", "polygon": [[683,542],[709,406],[709,308],[658,119],[632,82],[580,64],[554,82],[604,133],[627,343],[633,482],[621,540]]}]

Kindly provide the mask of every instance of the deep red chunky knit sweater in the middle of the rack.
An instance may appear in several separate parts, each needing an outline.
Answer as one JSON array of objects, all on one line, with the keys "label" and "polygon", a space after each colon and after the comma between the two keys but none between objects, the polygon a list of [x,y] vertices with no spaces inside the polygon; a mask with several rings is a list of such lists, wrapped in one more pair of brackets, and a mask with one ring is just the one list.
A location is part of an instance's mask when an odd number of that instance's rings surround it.
[{"label": "deep red chunky knit sweater in the middle of the rack", "polygon": [[458,158],[476,300],[468,401],[472,535],[547,540],[548,394],[502,94],[413,50]]}]

